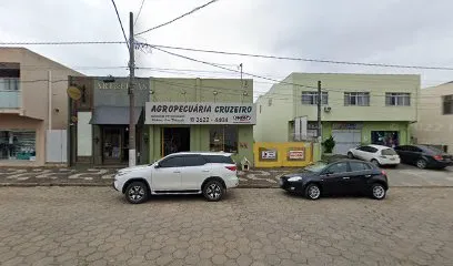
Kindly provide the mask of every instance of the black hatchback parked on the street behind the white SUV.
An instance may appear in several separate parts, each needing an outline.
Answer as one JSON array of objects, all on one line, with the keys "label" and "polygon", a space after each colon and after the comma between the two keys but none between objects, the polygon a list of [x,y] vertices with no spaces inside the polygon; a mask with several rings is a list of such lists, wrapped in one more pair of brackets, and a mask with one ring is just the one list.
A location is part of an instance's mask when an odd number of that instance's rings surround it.
[{"label": "black hatchback parked on the street behind the white SUV", "polygon": [[321,195],[370,195],[385,198],[389,190],[385,171],[372,163],[358,160],[341,160],[331,164],[316,163],[303,171],[284,175],[280,187],[302,194],[309,200]]}]

